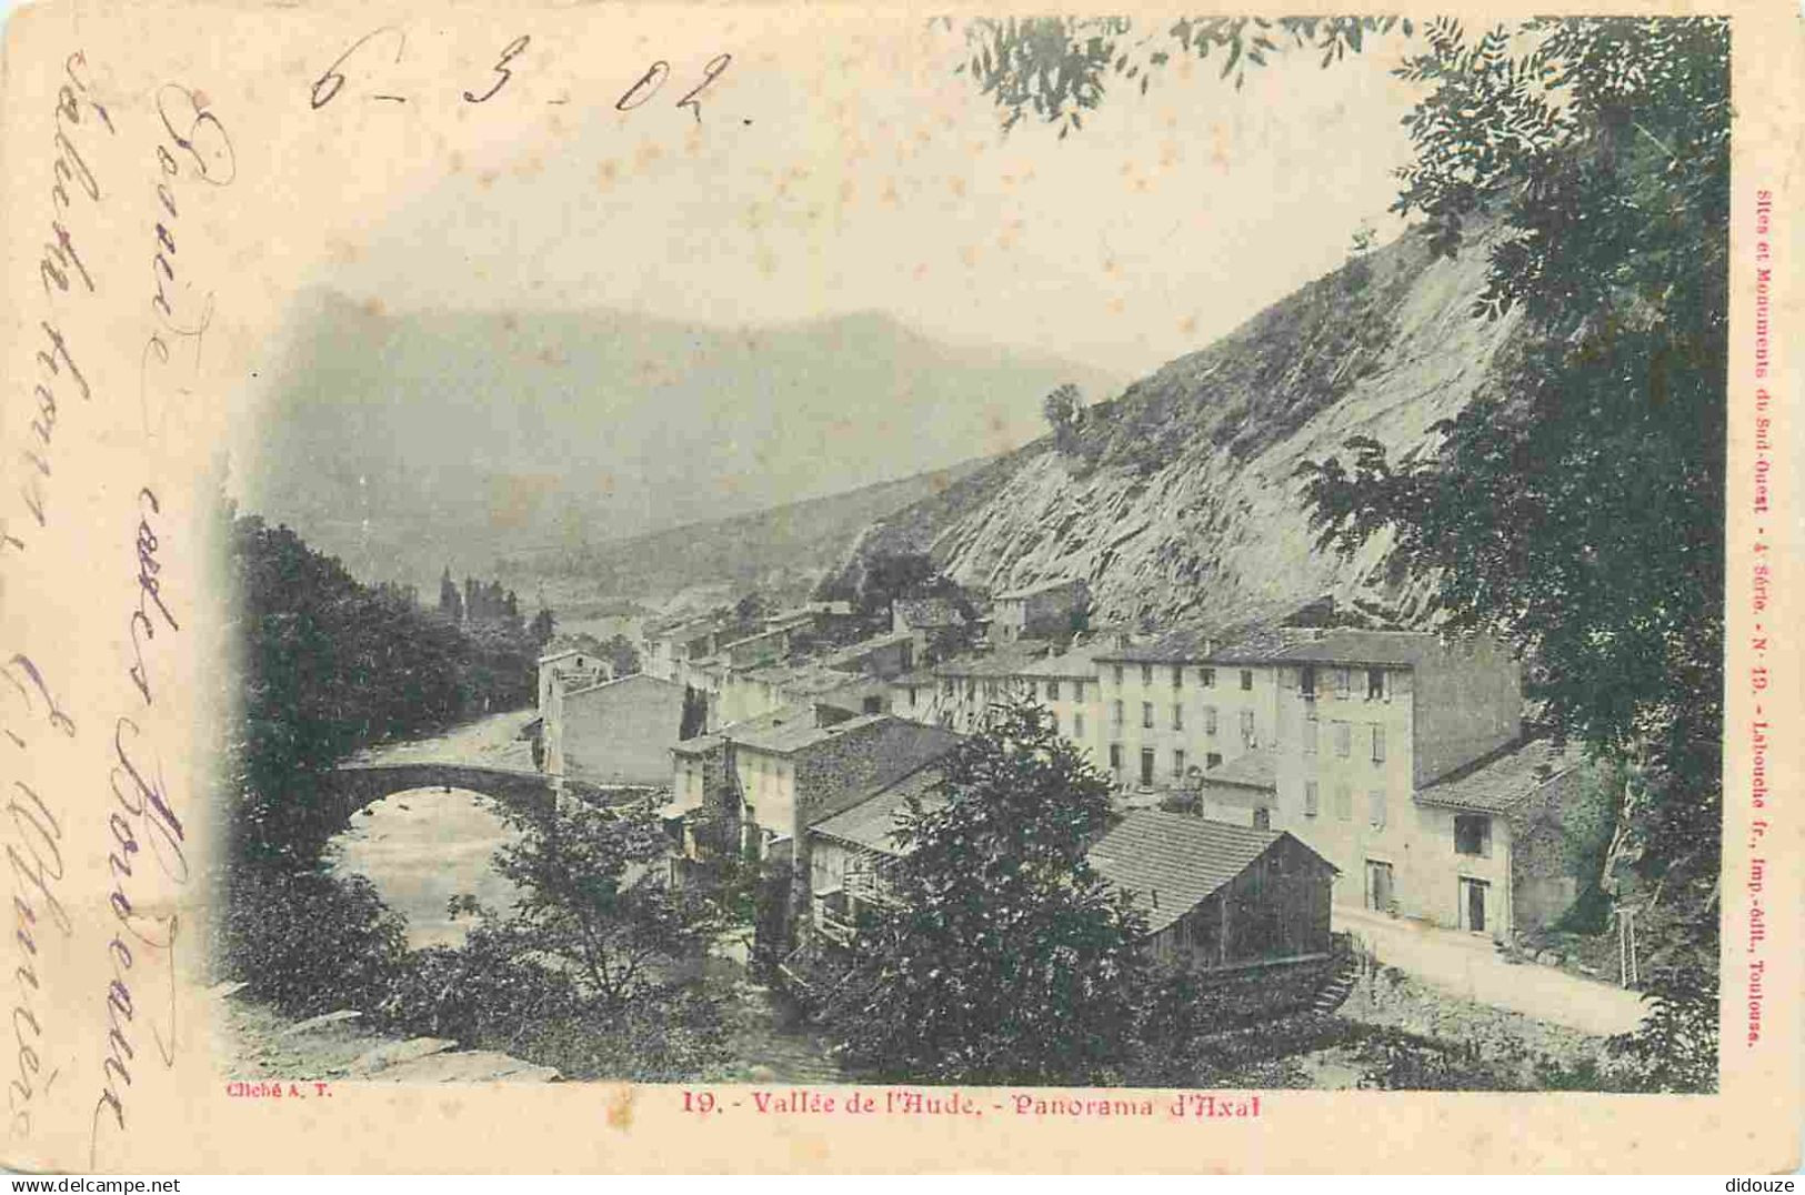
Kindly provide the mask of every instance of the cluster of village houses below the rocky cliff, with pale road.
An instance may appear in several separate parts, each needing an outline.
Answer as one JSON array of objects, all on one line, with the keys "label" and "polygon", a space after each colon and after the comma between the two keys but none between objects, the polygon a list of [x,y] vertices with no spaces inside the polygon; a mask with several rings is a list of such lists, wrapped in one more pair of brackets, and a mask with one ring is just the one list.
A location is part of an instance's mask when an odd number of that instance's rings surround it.
[{"label": "cluster of village houses below the rocky cliff, with pale road", "polygon": [[783,875],[764,946],[796,960],[852,946],[861,910],[893,901],[912,800],[944,801],[937,764],[1031,702],[1108,778],[1088,861],[1150,912],[1162,962],[1282,971],[1350,935],[1480,1002],[1637,1024],[1628,955],[1603,973],[1522,951],[1596,886],[1585,827],[1608,827],[1612,798],[1581,744],[1525,731],[1504,644],[1348,625],[1330,599],[1220,632],[1094,625],[1090,605],[1054,578],[875,612],[720,607],[646,621],[634,675],[561,635],[522,735],[558,791],[646,792],[671,883],[704,883],[722,852]]}]

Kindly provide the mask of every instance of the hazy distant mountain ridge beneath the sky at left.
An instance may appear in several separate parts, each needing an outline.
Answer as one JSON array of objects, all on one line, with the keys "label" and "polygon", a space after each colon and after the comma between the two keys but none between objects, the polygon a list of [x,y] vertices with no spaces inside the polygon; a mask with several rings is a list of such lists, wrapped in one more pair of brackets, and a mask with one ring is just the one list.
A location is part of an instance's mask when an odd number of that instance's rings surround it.
[{"label": "hazy distant mountain ridge beneath the sky at left", "polygon": [[[386,312],[296,300],[240,500],[368,579],[430,587],[953,469],[1041,428],[1072,361],[881,312],[720,329],[617,310]],[[866,516],[877,516],[861,505]],[[816,525],[819,520],[816,520]]]}]

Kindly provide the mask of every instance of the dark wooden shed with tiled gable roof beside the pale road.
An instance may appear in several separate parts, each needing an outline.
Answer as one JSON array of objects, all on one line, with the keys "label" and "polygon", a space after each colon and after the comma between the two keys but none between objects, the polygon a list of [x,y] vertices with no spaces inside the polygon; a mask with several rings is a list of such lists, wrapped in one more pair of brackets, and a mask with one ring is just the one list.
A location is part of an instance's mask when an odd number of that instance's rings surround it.
[{"label": "dark wooden shed with tiled gable roof beside the pale road", "polygon": [[1328,951],[1336,866],[1283,830],[1135,811],[1097,839],[1090,865],[1134,895],[1166,962],[1211,969]]}]

